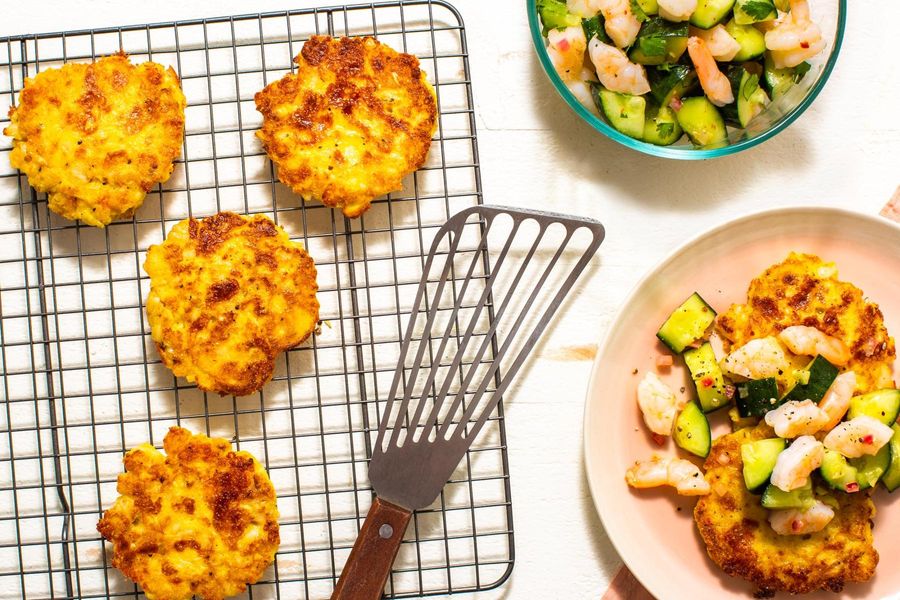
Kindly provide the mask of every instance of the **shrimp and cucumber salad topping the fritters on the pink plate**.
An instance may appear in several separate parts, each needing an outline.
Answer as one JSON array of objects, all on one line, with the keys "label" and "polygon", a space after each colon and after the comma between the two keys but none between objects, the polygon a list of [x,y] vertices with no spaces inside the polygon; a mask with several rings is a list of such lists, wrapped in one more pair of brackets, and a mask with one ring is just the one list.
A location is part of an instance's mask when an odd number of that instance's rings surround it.
[{"label": "shrimp and cucumber salad topping the fritters on the pink plate", "polygon": [[[678,400],[655,372],[643,375],[637,401],[657,443],[671,436],[683,451],[706,458],[712,445],[707,414],[720,409],[728,411],[734,431],[768,426],[764,439],[743,443],[740,454],[744,485],[769,509],[779,535],[824,529],[838,505],[835,494],[879,483],[889,492],[900,487],[900,390],[855,395],[850,349],[815,327],[789,326],[725,354],[715,349],[715,320],[715,310],[694,293],[657,332],[673,353],[658,358],[657,369],[682,359],[695,398]],[[791,367],[796,364],[803,366]],[[625,478],[636,488],[710,493],[703,471],[684,458],[654,456],[635,463]]]}]

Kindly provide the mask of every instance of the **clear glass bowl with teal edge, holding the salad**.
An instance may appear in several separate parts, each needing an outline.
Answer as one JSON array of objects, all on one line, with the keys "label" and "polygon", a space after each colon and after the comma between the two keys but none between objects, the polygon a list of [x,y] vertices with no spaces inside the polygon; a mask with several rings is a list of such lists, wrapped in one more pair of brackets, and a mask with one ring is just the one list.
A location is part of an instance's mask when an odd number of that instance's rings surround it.
[{"label": "clear glass bowl with teal edge, holding the salad", "polygon": [[602,117],[594,114],[582,105],[575,95],[569,91],[553,68],[553,63],[550,62],[550,56],[547,54],[547,41],[541,35],[541,23],[535,2],[536,0],[525,0],[531,39],[534,42],[534,48],[537,51],[538,59],[544,72],[550,78],[553,87],[556,88],[559,95],[569,105],[569,108],[575,111],[588,125],[623,146],[644,154],[680,160],[701,160],[735,154],[741,150],[752,148],[787,128],[797,117],[803,114],[803,111],[812,104],[825,86],[825,82],[828,80],[828,76],[831,74],[831,70],[837,61],[847,21],[847,0],[809,0],[813,21],[822,29],[825,49],[815,58],[808,61],[812,68],[803,79],[783,96],[770,103],[746,128],[741,129],[729,126],[728,142],[725,146],[697,148],[687,140],[686,136],[671,146],[657,146],[616,131]]}]

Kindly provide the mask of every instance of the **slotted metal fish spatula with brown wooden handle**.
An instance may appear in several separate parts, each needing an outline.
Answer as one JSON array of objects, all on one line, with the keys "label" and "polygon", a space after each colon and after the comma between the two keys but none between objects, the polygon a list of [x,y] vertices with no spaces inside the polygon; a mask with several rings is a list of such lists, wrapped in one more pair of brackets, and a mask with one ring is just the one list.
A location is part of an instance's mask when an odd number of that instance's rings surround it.
[{"label": "slotted metal fish spatula with brown wooden handle", "polygon": [[[489,236],[500,239],[490,270]],[[440,494],[603,236],[591,219],[498,206],[437,232],[369,463],[376,497],[332,600],[381,597],[413,511]]]}]

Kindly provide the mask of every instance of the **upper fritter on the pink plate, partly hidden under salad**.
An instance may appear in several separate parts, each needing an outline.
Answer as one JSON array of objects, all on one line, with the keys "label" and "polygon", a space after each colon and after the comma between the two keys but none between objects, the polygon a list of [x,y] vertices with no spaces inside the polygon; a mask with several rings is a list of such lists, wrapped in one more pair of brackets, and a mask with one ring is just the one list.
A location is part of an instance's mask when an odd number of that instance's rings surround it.
[{"label": "upper fritter on the pink plate, partly hidden under salad", "polygon": [[834,263],[792,252],[750,282],[747,303],[735,304],[716,319],[725,350],[807,325],[842,340],[852,353],[847,369],[856,373],[858,393],[894,387],[894,339],[877,304],[862,290],[837,279]]}]

